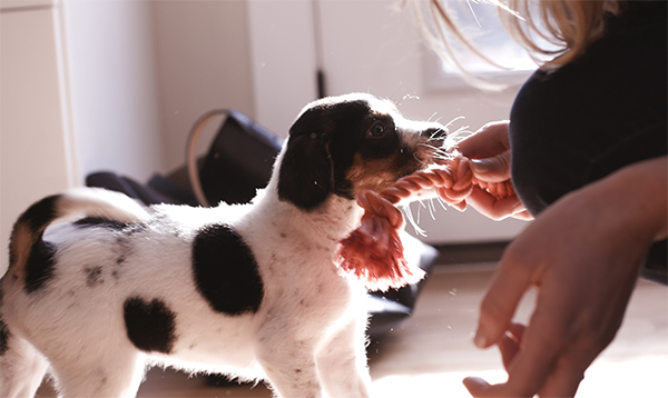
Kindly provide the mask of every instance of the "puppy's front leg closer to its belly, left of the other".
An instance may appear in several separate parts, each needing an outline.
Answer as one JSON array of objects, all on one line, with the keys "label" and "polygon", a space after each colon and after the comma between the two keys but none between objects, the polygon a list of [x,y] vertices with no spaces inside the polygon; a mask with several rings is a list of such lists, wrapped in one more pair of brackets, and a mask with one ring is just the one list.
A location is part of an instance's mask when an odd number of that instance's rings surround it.
[{"label": "puppy's front leg closer to its belly, left of the other", "polygon": [[261,336],[257,358],[274,391],[282,398],[320,398],[313,341],[298,340],[288,328]]}]

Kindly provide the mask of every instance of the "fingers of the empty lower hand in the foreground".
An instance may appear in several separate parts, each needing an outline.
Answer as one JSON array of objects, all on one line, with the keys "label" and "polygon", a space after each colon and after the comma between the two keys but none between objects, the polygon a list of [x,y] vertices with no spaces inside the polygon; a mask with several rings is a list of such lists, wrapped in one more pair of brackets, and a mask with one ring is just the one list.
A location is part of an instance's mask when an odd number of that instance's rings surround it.
[{"label": "fingers of the empty lower hand in the foreground", "polygon": [[474,344],[480,348],[498,345],[509,378],[499,385],[465,379],[473,397],[532,397],[537,392],[541,397],[572,397],[591,362],[568,355],[572,336],[560,326],[570,325],[566,319],[569,312],[559,310],[558,302],[539,298],[529,327],[511,322],[521,297],[534,281],[534,272],[533,267],[515,260],[512,247],[507,250],[481,304]]}]

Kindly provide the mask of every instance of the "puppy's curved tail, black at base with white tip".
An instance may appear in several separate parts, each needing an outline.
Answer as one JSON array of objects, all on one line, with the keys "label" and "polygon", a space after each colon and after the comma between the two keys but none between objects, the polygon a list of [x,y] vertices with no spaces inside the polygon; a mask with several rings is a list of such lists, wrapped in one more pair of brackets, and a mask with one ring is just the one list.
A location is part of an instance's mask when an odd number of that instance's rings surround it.
[{"label": "puppy's curved tail, black at base with white tip", "polygon": [[99,188],[78,188],[33,203],[13,226],[9,243],[9,269],[23,268],[45,230],[58,219],[100,217],[128,223],[150,218],[148,210],[129,197]]}]

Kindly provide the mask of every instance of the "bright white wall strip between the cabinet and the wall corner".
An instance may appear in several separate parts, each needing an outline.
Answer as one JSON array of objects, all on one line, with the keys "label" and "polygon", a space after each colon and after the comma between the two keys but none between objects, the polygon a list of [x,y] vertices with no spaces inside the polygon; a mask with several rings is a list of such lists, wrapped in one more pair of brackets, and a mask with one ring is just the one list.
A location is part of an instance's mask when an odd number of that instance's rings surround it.
[{"label": "bright white wall strip between the cabinet and the wall corner", "polygon": [[151,2],[63,0],[79,178],[164,169]]}]

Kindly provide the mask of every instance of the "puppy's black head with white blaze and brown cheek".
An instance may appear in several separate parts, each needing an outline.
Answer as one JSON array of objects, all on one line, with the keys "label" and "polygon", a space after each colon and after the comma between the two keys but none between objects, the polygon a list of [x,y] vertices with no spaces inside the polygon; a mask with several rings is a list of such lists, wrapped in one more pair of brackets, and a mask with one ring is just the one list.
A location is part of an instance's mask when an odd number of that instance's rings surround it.
[{"label": "puppy's black head with white blaze and brown cheek", "polygon": [[425,168],[445,129],[404,119],[394,103],[371,94],[310,103],[289,129],[278,170],[278,197],[313,210],[330,195],[354,199]]}]

